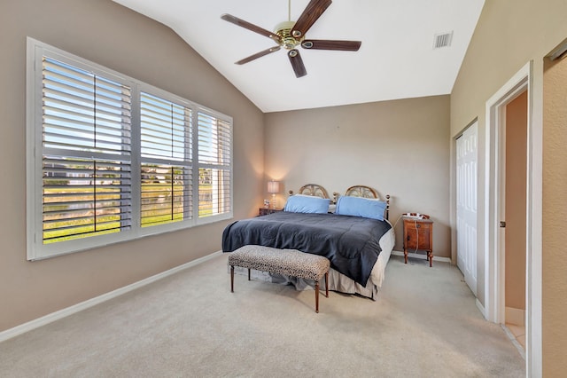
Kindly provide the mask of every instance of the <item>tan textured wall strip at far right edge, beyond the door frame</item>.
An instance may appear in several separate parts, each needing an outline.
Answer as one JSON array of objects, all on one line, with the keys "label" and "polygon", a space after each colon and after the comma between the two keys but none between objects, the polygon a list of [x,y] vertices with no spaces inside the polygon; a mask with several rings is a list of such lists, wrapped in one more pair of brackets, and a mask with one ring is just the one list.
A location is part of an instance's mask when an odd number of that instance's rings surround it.
[{"label": "tan textured wall strip at far right edge, beyond the door frame", "polygon": [[[566,34],[567,35],[567,34]],[[567,371],[567,59],[548,63],[543,99],[543,353],[546,376]]]}]

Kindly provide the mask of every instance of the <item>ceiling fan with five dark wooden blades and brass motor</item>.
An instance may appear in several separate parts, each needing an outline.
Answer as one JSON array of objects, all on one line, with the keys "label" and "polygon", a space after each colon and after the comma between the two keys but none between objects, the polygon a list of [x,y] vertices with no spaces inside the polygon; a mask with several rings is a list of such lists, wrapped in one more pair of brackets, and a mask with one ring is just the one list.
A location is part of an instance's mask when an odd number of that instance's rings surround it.
[{"label": "ceiling fan with five dark wooden blades and brass motor", "polygon": [[263,57],[272,52],[283,49],[287,50],[287,55],[290,58],[291,67],[296,77],[307,75],[307,70],[303,64],[303,59],[296,49],[299,45],[304,49],[312,50],[339,50],[339,51],[358,51],[361,47],[361,41],[336,41],[328,39],[305,39],[307,30],[313,26],[315,21],[321,17],[322,12],[329,7],[332,3],[331,0],[311,0],[307,4],[306,9],[301,13],[299,19],[295,22],[291,21],[291,0],[289,2],[290,12],[287,21],[280,22],[276,25],[276,30],[272,33],[264,28],[260,28],[250,22],[238,19],[230,14],[223,14],[222,20],[232,22],[233,24],[252,30],[260,35],[265,35],[268,38],[276,41],[277,45],[270,47],[267,50],[257,52],[245,59],[238,60],[236,64],[242,65],[254,59]]}]

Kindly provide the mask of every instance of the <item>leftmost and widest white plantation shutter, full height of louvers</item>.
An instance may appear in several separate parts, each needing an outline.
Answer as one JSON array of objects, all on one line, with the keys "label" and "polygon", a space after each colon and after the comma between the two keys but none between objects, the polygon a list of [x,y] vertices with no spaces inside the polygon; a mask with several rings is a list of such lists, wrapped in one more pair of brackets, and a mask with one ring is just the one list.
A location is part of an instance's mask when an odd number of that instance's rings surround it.
[{"label": "leftmost and widest white plantation shutter, full height of louvers", "polygon": [[43,59],[43,243],[128,230],[131,91]]}]

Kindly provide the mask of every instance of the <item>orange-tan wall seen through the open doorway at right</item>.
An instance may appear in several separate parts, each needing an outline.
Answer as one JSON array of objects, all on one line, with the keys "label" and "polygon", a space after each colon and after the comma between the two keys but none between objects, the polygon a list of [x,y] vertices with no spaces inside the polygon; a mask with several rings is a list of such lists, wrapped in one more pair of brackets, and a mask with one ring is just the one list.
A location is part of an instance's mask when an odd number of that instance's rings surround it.
[{"label": "orange-tan wall seen through the open doorway at right", "polygon": [[525,310],[527,92],[506,106],[506,307]]}]

